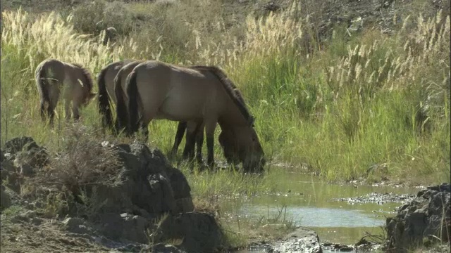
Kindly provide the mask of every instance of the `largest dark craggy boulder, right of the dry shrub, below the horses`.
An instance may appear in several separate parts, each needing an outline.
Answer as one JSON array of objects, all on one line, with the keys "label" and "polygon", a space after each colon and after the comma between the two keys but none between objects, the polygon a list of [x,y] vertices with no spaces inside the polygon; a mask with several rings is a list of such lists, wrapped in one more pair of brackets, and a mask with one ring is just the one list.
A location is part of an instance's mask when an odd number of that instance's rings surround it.
[{"label": "largest dark craggy boulder, right of the dry shrub, below the horses", "polygon": [[140,212],[154,219],[165,213],[193,211],[191,188],[185,176],[168,163],[161,151],[149,150],[140,143],[103,145],[118,150],[124,173],[121,186],[99,187],[92,195],[94,202],[103,203],[100,212]]}]

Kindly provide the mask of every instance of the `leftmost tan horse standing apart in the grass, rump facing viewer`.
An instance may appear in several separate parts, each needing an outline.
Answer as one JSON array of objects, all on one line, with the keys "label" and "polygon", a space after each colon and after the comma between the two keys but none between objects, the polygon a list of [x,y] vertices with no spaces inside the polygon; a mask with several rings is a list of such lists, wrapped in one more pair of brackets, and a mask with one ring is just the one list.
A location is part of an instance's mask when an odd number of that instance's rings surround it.
[{"label": "leftmost tan horse standing apart in the grass, rump facing viewer", "polygon": [[41,117],[45,120],[46,105],[50,124],[53,126],[54,110],[63,91],[66,121],[70,119],[70,103],[72,103],[73,119],[80,118],[79,108],[88,105],[96,96],[92,93],[91,74],[82,66],[65,63],[61,60],[47,59],[39,63],[35,71],[35,79],[41,97]]}]

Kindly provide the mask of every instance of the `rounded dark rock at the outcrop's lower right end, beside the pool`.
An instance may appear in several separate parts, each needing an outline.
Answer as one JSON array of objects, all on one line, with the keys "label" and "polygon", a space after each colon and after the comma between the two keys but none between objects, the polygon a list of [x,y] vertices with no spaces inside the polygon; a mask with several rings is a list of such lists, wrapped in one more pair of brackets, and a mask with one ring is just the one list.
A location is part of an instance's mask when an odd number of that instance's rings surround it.
[{"label": "rounded dark rock at the outcrop's lower right end, beside the pool", "polygon": [[222,238],[214,216],[201,212],[166,216],[153,235],[157,242],[181,240],[181,249],[199,253],[214,252],[221,245]]}]

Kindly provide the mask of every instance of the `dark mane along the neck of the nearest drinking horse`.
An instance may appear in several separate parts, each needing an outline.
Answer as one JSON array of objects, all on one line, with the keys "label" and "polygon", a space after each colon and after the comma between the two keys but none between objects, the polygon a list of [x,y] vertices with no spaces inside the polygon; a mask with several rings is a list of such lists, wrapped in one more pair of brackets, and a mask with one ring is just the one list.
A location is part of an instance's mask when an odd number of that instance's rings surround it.
[{"label": "dark mane along the neck of the nearest drinking horse", "polygon": [[237,86],[233,84],[232,80],[230,80],[226,76],[226,73],[224,73],[223,70],[221,70],[219,67],[216,66],[202,66],[202,65],[194,65],[190,66],[189,68],[193,70],[207,70],[216,75],[219,81],[221,81],[221,84],[223,84],[230,98],[232,98],[235,105],[237,105],[238,109],[241,111],[242,115],[245,116],[245,119],[251,122],[253,121],[253,117],[249,113],[249,110],[247,109],[245,100],[242,97],[241,92],[237,89]]}]

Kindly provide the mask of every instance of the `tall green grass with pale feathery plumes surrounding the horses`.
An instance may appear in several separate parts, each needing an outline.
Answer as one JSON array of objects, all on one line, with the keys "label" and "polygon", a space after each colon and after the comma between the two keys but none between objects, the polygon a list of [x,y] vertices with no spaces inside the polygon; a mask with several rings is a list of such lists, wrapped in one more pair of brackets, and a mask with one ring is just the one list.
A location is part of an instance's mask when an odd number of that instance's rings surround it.
[{"label": "tall green grass with pale feathery plumes surrounding the horses", "polygon": [[[166,13],[187,6],[152,8]],[[20,10],[4,12],[1,143],[20,134],[44,145],[56,142],[37,115],[33,74],[44,58],[77,62],[93,74],[121,58],[159,59],[223,67],[257,116],[272,162],[307,163],[329,180],[450,181],[450,17],[409,17],[390,36],[366,30],[349,37],[336,27],[323,42],[298,13],[294,5],[258,19],[249,15],[242,30],[228,27],[224,17],[213,23],[211,15],[199,20],[188,12],[183,23],[162,14],[169,27],[132,31],[104,46],[99,37],[75,32],[72,15],[32,20]],[[94,103],[82,117],[82,124],[97,128]],[[156,120],[149,127],[149,142],[168,151],[175,122]],[[217,145],[215,153],[222,159]],[[370,169],[374,164],[387,169]],[[192,178],[200,194],[221,193],[215,180]]]}]

